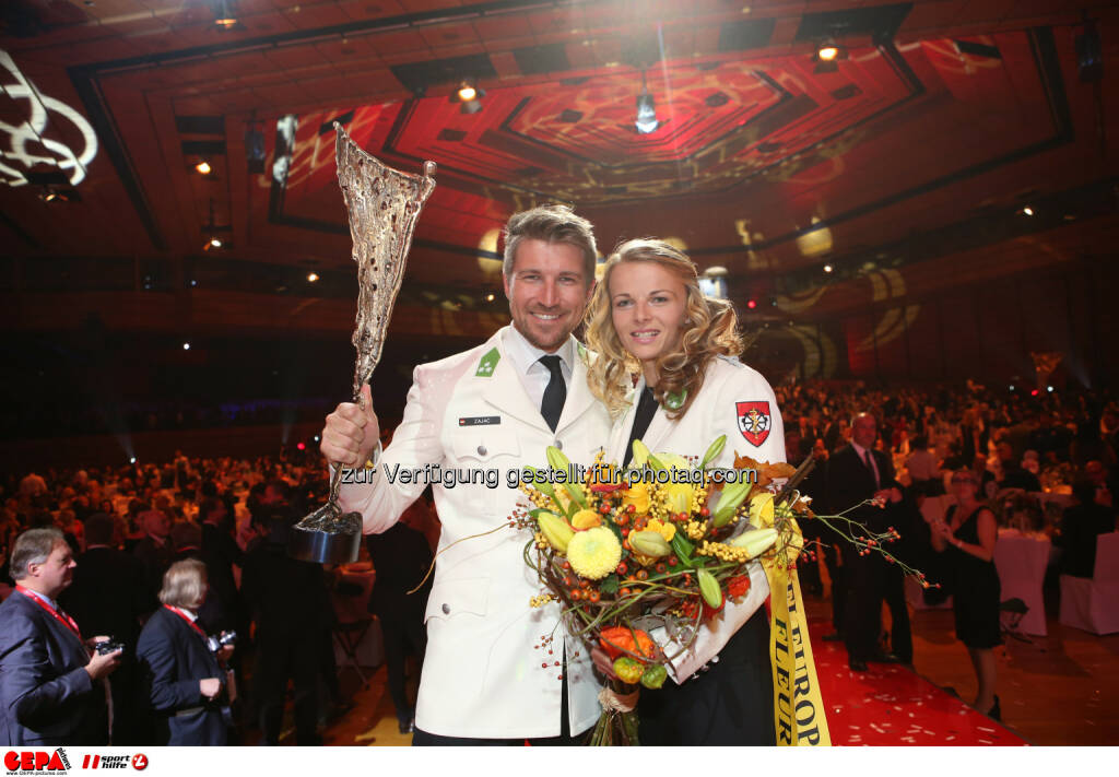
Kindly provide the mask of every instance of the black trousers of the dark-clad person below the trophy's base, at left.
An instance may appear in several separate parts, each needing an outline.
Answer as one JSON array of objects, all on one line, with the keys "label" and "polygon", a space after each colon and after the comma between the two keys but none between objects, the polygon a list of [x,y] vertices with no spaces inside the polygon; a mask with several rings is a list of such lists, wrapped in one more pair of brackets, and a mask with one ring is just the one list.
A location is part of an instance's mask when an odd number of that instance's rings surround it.
[{"label": "black trousers of the dark-clad person below the trophy's base, at left", "polygon": [[261,718],[264,740],[280,742],[288,681],[295,692],[295,742],[318,743],[319,657],[322,636],[316,630],[289,634],[264,634],[257,640],[257,689],[261,693]]}]

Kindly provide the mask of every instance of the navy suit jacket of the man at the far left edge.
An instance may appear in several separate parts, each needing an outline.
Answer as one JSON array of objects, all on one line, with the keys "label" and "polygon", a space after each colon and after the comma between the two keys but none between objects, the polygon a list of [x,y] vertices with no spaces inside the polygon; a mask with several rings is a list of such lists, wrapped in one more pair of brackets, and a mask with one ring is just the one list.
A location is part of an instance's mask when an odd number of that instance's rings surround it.
[{"label": "navy suit jacket of the man at the far left edge", "polygon": [[105,696],[70,629],[13,591],[0,605],[0,740],[8,745],[104,745]]}]

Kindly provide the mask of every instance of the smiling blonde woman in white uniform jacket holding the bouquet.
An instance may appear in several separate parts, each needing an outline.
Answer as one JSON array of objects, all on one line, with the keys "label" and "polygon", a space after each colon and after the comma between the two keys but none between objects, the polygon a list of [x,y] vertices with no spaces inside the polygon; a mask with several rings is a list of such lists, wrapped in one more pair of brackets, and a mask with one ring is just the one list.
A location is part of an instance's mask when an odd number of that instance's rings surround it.
[{"label": "smiling blonde woman in white uniform jacket holding the bouquet", "polygon": [[[769,383],[739,362],[742,339],[730,302],[699,290],[695,264],[671,245],[634,240],[605,264],[586,315],[598,352],[587,380],[613,418],[608,460],[628,462],[636,439],[650,450],[733,467],[735,451],[784,461],[781,413]],[[769,584],[761,567],[740,601],[702,627],[673,662],[675,683],[639,703],[643,745],[773,745]]]}]

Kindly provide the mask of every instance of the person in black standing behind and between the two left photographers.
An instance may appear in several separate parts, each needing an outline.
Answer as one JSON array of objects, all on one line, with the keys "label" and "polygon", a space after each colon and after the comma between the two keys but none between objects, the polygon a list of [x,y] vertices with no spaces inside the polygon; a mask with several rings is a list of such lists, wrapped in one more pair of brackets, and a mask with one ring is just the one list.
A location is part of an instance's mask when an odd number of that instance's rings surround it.
[{"label": "person in black standing behind and between the two left photographers", "polygon": [[62,595],[63,606],[91,634],[105,634],[124,645],[113,674],[113,745],[143,745],[148,740],[140,712],[135,649],[140,622],[159,602],[148,591],[139,559],[113,542],[115,525],[104,513],[85,524],[86,551],[78,556],[74,583]]}]

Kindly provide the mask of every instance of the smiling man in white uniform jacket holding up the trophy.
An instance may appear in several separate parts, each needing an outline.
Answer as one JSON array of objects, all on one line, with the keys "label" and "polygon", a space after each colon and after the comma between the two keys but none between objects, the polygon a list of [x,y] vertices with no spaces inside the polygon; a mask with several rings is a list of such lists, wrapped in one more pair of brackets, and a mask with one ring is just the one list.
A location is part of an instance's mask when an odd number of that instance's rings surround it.
[{"label": "smiling man in white uniform jacket holding up the trophy", "polygon": [[[415,745],[568,743],[598,719],[599,684],[556,603],[524,562],[530,537],[501,528],[518,504],[516,474],[547,467],[561,448],[590,465],[610,418],[586,384],[585,348],[571,335],[594,285],[591,224],[570,208],[515,214],[502,274],[513,325],[477,348],[415,368],[404,418],[379,451],[369,387],[365,410],[327,416],[322,453],[368,483],[342,485],[344,509],[367,534],[386,531],[432,485],[442,522],[427,601],[427,652]],[[462,542],[459,542],[462,541]],[[457,544],[458,543],[458,544]]]}]

